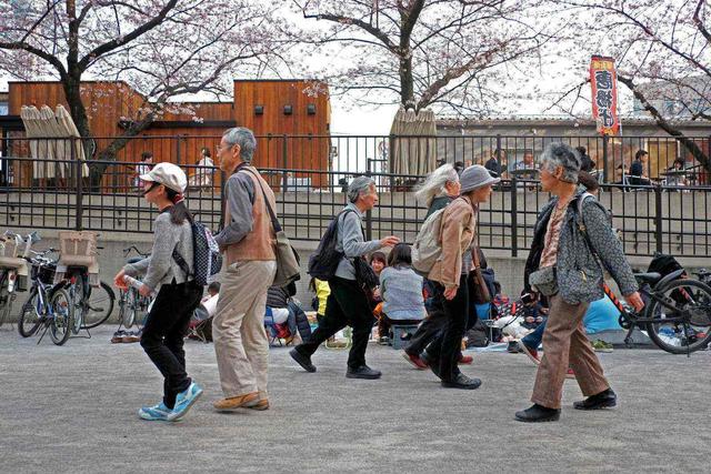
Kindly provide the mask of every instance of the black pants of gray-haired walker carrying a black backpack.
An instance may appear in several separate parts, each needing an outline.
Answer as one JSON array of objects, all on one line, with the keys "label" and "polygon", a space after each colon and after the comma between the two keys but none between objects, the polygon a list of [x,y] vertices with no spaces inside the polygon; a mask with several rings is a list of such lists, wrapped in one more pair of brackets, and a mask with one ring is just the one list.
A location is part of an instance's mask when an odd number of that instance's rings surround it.
[{"label": "black pants of gray-haired walker carrying a black backpack", "polygon": [[365,349],[373,327],[373,313],[365,293],[354,280],[333,276],[329,280],[329,286],[331,294],[326,302],[326,314],[319,322],[319,327],[296,349],[301,354],[311,356],[323,341],[349,325],[353,329],[353,344],[348,355],[348,366],[357,369],[365,364]]}]

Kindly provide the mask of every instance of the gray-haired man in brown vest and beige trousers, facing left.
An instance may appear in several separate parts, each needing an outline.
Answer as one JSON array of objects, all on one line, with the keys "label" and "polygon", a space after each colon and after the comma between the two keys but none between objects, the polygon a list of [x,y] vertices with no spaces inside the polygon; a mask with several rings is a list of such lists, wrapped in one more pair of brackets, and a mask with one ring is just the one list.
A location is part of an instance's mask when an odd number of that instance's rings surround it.
[{"label": "gray-haired man in brown vest and beige trousers, facing left", "polygon": [[216,241],[227,258],[212,337],[224,399],[218,411],[269,409],[267,366],[269,340],[264,332],[267,290],[277,273],[276,235],[268,203],[274,193],[251,167],[257,140],[249,129],[229,129],[219,147],[226,184],[224,229]]}]

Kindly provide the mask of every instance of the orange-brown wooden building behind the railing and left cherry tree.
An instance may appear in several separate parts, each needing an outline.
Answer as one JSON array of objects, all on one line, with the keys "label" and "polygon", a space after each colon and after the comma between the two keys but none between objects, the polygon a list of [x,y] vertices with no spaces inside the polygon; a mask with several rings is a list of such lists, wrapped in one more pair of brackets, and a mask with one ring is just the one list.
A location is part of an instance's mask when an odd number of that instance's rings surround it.
[{"label": "orange-brown wooden building behind the railing and left cherry tree", "polygon": [[[117,173],[117,167],[112,167],[111,183],[104,179],[104,185],[114,189],[122,188],[121,183],[129,185],[134,173],[132,163],[143,152],[153,153],[154,162],[181,165],[197,164],[202,148],[214,157],[224,130],[238,125],[250,128],[257,137],[257,167],[328,170],[330,104],[326,84],[304,80],[236,80],[233,90],[232,102],[168,104],[158,120],[117,152],[116,160],[124,163],[123,172]],[[98,158],[116,138],[124,135],[129,121],[140,119],[147,105],[146,98],[122,81],[83,82],[81,95],[93,134],[90,145],[86,145],[91,158]],[[19,119],[22,105],[68,108],[61,83],[51,81],[10,82],[7,101],[8,115],[0,121],[4,139],[1,151],[6,157],[27,152]],[[31,172],[26,170],[21,174],[30,177]],[[278,175],[299,179],[306,174]],[[327,182],[318,173],[309,173],[309,185],[318,186],[322,181]]]}]

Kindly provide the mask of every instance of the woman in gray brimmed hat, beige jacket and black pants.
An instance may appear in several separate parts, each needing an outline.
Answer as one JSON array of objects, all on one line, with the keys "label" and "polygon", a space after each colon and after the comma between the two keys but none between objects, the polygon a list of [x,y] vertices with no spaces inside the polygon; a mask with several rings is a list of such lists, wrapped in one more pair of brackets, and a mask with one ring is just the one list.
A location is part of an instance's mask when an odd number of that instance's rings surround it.
[{"label": "woman in gray brimmed hat, beige jacket and black pants", "polygon": [[474,390],[479,379],[470,379],[457,366],[469,310],[467,278],[472,270],[472,242],[477,229],[478,204],[489,200],[491,186],[499,181],[484,167],[467,168],[460,179],[461,195],[442,214],[442,256],[428,279],[434,282],[432,312],[442,312],[443,331],[427,349],[427,363],[442,386]]}]

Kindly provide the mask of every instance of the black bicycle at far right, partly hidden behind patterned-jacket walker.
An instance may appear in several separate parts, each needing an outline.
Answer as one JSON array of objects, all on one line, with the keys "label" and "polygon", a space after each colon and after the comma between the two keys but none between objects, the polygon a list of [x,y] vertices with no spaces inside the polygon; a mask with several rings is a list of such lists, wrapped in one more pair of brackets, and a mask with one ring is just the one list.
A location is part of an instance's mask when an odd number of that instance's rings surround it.
[{"label": "black bicycle at far right, partly hidden behind patterned-jacket walker", "polygon": [[711,342],[711,286],[685,278],[683,270],[663,276],[660,273],[638,273],[640,294],[645,299],[642,313],[623,305],[607,283],[604,293],[620,311],[619,323],[628,330],[624,340],[631,343],[634,327],[647,330],[661,350],[690,355]]}]

